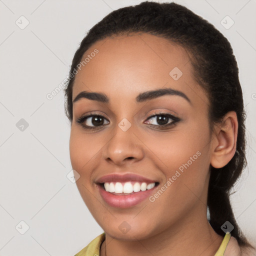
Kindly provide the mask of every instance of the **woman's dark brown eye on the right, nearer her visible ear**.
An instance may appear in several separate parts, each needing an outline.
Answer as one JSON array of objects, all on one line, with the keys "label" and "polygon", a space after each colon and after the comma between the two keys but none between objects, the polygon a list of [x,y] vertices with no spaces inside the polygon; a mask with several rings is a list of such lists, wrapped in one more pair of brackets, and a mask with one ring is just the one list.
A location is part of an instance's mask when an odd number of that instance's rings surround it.
[{"label": "woman's dark brown eye on the right, nearer her visible ear", "polygon": [[169,126],[176,122],[178,122],[180,119],[176,116],[173,116],[170,113],[154,113],[149,118],[147,118],[147,123],[155,126]]}]

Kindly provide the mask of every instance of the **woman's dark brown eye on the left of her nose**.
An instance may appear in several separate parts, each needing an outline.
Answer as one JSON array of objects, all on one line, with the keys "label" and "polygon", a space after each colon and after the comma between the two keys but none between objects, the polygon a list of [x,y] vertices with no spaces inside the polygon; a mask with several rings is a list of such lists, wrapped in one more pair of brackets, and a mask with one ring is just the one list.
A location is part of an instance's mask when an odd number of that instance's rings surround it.
[{"label": "woman's dark brown eye on the left of her nose", "polygon": [[85,129],[93,129],[109,123],[104,116],[93,113],[81,116],[76,122],[81,124]]}]

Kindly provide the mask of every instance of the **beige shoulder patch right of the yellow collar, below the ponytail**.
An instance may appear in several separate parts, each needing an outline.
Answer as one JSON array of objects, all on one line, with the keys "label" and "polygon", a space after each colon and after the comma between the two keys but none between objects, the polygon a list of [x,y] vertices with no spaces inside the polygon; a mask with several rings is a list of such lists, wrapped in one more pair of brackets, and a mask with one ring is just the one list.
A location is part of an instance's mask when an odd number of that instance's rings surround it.
[{"label": "beige shoulder patch right of the yellow collar, below the ponytail", "polygon": [[249,248],[240,247],[235,237],[231,236],[223,256],[256,256],[256,251]]}]

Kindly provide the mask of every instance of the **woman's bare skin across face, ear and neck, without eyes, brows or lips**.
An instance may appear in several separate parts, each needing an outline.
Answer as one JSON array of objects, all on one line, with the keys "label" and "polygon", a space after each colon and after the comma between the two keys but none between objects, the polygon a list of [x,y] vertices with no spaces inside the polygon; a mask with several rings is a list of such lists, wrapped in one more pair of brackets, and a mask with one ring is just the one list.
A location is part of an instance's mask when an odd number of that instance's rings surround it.
[{"label": "woman's bare skin across face, ear and neck, without eyes, brows or lips", "polygon": [[[209,166],[220,168],[234,155],[236,114],[228,112],[210,133],[209,100],[193,78],[190,57],[164,38],[147,33],[108,37],[84,56],[95,48],[99,52],[76,74],[72,99],[88,90],[103,92],[110,101],[81,98],[73,103],[70,159],[80,174],[78,190],[105,231],[100,256],[214,255],[223,237],[206,218]],[[174,67],[183,73],[178,80],[169,75]],[[183,92],[191,103],[179,95],[135,101],[139,93],[163,87]],[[180,121],[160,129],[156,116],[148,119],[160,110]],[[105,117],[106,126],[93,131],[76,122],[90,111]],[[117,125],[123,118],[131,123],[125,132]],[[90,120],[84,124],[92,125]],[[154,202],[111,207],[94,183],[105,174],[133,172],[158,180],[160,188],[197,151],[201,155]],[[126,233],[118,228],[123,221],[130,226]]]}]

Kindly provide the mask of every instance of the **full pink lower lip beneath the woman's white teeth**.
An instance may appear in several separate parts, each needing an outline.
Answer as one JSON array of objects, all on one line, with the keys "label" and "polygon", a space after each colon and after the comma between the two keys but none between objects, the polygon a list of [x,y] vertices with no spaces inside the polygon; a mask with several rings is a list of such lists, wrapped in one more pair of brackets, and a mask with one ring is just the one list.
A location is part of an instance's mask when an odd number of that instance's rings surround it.
[{"label": "full pink lower lip beneath the woman's white teeth", "polygon": [[107,192],[100,185],[97,186],[99,187],[99,193],[101,197],[110,206],[118,208],[129,208],[148,198],[152,191],[154,190],[154,188],[156,188],[158,185],[154,186],[151,189],[146,189],[145,191],[134,192],[133,194],[127,195],[115,195],[110,192]]}]

